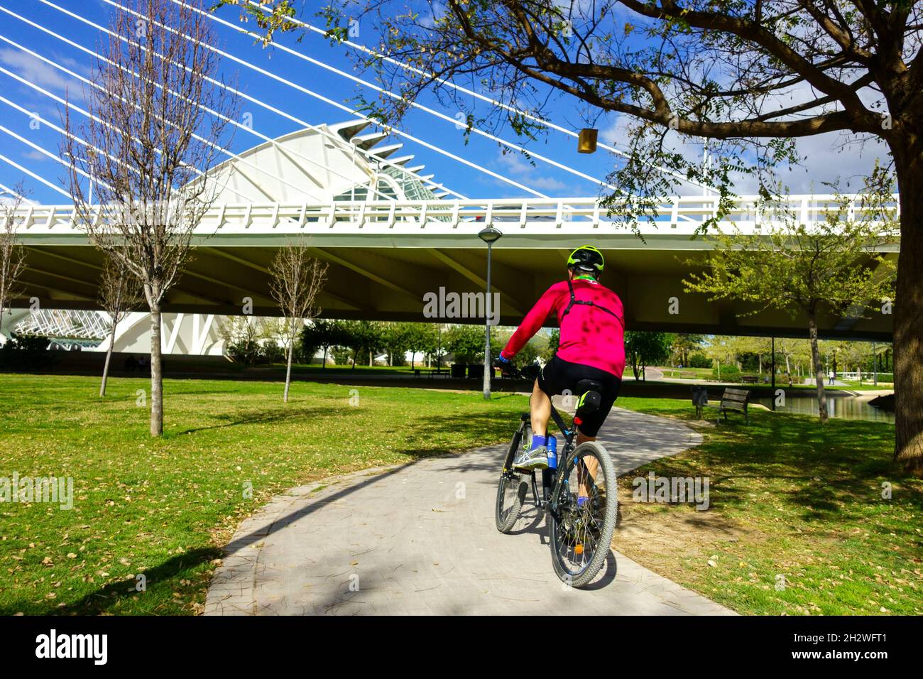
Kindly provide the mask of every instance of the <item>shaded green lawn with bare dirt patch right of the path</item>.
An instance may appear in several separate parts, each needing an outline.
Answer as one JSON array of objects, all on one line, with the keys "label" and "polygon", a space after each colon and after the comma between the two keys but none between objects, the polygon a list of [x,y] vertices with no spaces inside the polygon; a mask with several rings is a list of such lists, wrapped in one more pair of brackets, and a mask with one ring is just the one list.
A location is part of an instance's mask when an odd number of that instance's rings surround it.
[{"label": "shaded green lawn with bare dirt patch right of the path", "polygon": [[[754,409],[715,428],[686,401],[618,405],[689,420],[704,441],[622,479],[616,549],[737,612],[923,614],[923,479],[893,467],[893,424]],[[649,471],[708,477],[710,508],[633,502]]]}]

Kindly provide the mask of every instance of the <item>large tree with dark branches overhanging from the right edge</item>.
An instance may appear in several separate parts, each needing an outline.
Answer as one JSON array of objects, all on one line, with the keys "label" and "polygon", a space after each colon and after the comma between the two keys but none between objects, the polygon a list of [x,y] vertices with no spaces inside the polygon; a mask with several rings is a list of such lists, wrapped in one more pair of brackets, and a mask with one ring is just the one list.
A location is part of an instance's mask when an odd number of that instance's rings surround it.
[{"label": "large tree with dark branches overhanging from the right edge", "polygon": [[[304,30],[291,0],[222,0],[276,31]],[[379,51],[359,52],[391,98],[366,107],[395,123],[427,89],[469,127],[509,124],[533,136],[557,92],[587,117],[621,114],[628,159],[610,176],[609,204],[650,216],[678,177],[711,183],[729,207],[735,170],[773,190],[772,170],[797,163],[796,140],[838,132],[881,139],[900,190],[901,252],[894,308],[895,458],[923,472],[923,5],[914,0],[445,0],[423,11],[392,0],[330,3],[335,40],[350,18],[378,28]],[[428,11],[427,11],[428,10]],[[366,41],[368,42],[368,41]],[[382,58],[382,55],[387,55]],[[458,76],[490,88],[479,113],[452,90]],[[478,100],[479,101],[479,100]],[[574,107],[577,108],[577,107]],[[483,110],[482,107],[481,110]],[[707,139],[711,164],[679,140]],[[655,165],[668,172],[658,172]],[[641,197],[641,198],[632,198]]]}]

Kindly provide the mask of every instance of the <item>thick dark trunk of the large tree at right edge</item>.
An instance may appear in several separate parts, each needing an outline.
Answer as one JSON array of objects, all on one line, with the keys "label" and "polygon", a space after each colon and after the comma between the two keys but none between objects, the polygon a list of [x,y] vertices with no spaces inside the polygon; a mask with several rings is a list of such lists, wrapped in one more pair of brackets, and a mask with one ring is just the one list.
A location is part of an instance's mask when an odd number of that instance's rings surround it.
[{"label": "thick dark trunk of the large tree at right edge", "polygon": [[[894,461],[923,475],[923,151],[920,137],[893,143],[901,195],[901,252],[894,301]],[[905,143],[906,142],[906,143]]]}]

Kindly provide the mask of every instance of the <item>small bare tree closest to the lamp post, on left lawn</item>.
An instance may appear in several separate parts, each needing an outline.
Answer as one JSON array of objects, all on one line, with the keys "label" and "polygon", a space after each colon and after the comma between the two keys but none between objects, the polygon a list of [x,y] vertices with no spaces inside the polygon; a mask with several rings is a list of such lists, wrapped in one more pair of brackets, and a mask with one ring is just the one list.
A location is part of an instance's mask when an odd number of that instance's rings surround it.
[{"label": "small bare tree closest to the lamp post, on left lawn", "polygon": [[282,401],[288,403],[289,385],[292,382],[292,354],[298,333],[320,313],[318,295],[327,277],[327,262],[310,256],[304,243],[287,245],[279,249],[270,267],[272,297],[279,303],[284,324],[282,342],[287,350],[285,368],[285,393]]}]

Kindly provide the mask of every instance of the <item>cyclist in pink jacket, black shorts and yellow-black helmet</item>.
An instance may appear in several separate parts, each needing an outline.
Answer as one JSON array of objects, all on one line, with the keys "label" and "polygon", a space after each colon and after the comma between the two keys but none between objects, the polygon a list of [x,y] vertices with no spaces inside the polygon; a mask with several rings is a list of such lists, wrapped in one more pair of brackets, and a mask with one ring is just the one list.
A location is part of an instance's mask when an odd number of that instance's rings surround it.
[{"label": "cyclist in pink jacket, black shorts and yellow-black helmet", "polygon": [[[565,391],[575,393],[577,382],[581,380],[594,380],[603,385],[599,409],[583,417],[578,426],[577,445],[595,440],[596,433],[616,402],[625,370],[625,312],[618,296],[599,283],[604,264],[603,253],[593,246],[584,245],[571,252],[568,279],[545,291],[497,357],[500,370],[510,370],[516,354],[548,317],[555,315],[560,328],[557,354],[535,380],[529,399],[532,444],[529,450],[521,452],[513,460],[514,468],[533,470],[548,467],[546,443],[551,396]],[[593,476],[594,471],[590,469]],[[583,494],[581,492],[581,496]]]}]

